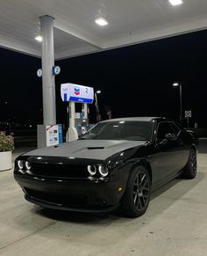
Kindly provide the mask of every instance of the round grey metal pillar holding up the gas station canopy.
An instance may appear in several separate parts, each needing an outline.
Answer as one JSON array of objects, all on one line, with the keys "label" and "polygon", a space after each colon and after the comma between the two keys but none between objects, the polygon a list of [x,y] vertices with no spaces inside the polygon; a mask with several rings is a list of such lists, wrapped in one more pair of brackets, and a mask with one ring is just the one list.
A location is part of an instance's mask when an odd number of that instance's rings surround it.
[{"label": "round grey metal pillar holding up the gas station canopy", "polygon": [[42,36],[42,93],[43,123],[56,123],[54,66],[54,18],[48,15],[40,17]]}]

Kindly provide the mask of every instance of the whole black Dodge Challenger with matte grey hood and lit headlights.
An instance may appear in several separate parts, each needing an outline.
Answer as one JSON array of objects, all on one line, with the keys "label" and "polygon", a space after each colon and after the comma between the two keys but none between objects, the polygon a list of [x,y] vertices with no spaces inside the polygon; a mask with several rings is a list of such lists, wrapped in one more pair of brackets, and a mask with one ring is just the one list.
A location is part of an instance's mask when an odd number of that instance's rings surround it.
[{"label": "whole black Dodge Challenger with matte grey hood and lit headlights", "polygon": [[134,117],[99,122],[80,139],[32,150],[15,161],[25,199],[44,208],[145,213],[154,189],[196,177],[195,138],[174,121]]}]

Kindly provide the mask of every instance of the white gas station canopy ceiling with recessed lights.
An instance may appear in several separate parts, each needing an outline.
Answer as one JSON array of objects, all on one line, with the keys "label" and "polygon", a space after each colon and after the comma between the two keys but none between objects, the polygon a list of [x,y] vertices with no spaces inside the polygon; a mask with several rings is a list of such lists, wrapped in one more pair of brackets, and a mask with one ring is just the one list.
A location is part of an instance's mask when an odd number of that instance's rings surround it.
[{"label": "white gas station canopy ceiling with recessed lights", "polygon": [[[55,59],[89,54],[207,28],[207,1],[6,0],[0,4],[0,47],[41,56],[39,17],[54,17]],[[108,26],[98,26],[104,17]]]}]

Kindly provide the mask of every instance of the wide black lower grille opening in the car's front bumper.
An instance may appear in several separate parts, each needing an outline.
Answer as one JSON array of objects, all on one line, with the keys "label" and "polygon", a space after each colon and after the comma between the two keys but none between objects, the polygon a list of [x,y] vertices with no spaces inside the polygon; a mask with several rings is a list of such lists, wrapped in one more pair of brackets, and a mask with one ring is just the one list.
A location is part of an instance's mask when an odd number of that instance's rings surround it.
[{"label": "wide black lower grille opening in the car's front bumper", "polygon": [[87,196],[82,194],[52,194],[38,190],[32,190],[26,187],[24,189],[25,193],[30,197],[39,201],[46,201],[47,203],[51,204],[61,204],[62,206],[75,208],[86,207],[88,204]]}]

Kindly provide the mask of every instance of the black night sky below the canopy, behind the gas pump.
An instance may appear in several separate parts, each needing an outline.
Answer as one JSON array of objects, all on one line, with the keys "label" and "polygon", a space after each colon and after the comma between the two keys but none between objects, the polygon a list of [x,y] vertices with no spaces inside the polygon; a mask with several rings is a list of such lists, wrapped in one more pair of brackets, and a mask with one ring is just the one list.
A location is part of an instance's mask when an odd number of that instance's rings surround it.
[{"label": "black night sky below the canopy, behind the gas pump", "polygon": [[[40,59],[0,48],[0,121],[42,123]],[[103,92],[99,105],[113,117],[167,116],[179,119],[182,83],[183,110],[192,110],[193,121],[207,127],[207,31],[155,40],[93,55],[56,62],[57,122],[66,122],[66,103],[61,102],[62,83],[95,87]],[[5,104],[7,102],[7,104]],[[95,106],[90,106],[94,122]]]}]

